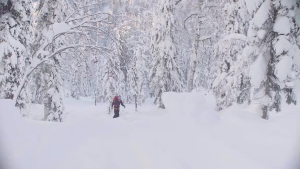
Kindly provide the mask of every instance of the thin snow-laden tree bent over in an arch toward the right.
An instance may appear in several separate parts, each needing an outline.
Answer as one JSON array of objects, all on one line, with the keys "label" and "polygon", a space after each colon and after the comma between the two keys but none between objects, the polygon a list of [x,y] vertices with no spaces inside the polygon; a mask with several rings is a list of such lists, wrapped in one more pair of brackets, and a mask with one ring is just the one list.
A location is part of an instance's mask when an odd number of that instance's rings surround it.
[{"label": "thin snow-laden tree bent over in an arch toward the right", "polygon": [[[52,51],[53,46],[55,46],[56,44],[56,41],[62,38],[63,36],[75,34],[80,36],[86,36],[90,32],[106,34],[112,40],[112,42],[117,45],[117,39],[111,32],[106,31],[100,27],[94,26],[95,23],[102,23],[106,25],[114,24],[109,21],[109,19],[113,17],[112,14],[107,12],[91,12],[91,9],[93,9],[95,5],[103,4],[106,2],[109,2],[109,0],[77,7],[77,9],[71,15],[66,17],[66,19],[63,22],[55,22],[51,25],[52,29],[50,28],[48,32],[42,34],[45,41],[40,46],[38,46],[38,50],[36,50],[33,54],[32,63],[27,67],[19,86],[14,93],[13,101],[15,103],[17,103],[17,99],[19,98],[20,93],[26,86],[27,81],[30,75],[34,72],[34,70],[36,70],[41,64],[45,63],[45,61],[52,59],[55,55],[67,50],[74,51],[74,53],[77,54],[82,54],[80,48],[90,48],[98,50],[103,55],[105,55],[104,53],[107,52],[113,52],[108,47],[89,45],[88,39],[84,40],[87,41],[86,44],[70,44],[56,49],[54,47],[54,51]],[[81,13],[81,11],[83,11],[83,14]],[[51,50],[49,48],[51,48]]]}]

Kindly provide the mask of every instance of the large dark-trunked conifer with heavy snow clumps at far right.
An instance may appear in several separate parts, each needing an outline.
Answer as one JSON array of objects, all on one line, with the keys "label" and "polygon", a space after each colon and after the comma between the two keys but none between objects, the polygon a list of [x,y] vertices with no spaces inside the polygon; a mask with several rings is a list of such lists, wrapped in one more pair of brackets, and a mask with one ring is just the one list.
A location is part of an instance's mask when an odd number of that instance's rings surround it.
[{"label": "large dark-trunked conifer with heavy snow clumps at far right", "polygon": [[268,111],[281,111],[283,96],[288,103],[296,104],[294,89],[299,80],[295,76],[299,74],[296,56],[300,53],[296,40],[297,8],[296,0],[265,0],[249,11],[253,18],[245,56],[249,56],[251,97],[262,104],[263,119],[269,118]]}]

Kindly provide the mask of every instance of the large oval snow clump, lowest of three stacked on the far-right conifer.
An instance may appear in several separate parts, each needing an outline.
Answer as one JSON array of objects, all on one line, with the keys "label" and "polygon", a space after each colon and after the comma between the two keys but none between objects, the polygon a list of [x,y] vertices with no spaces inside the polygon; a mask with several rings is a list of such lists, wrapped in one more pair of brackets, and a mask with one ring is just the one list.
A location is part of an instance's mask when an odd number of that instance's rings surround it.
[{"label": "large oval snow clump, lowest of three stacked on the far-right conifer", "polygon": [[293,59],[290,56],[281,56],[279,62],[275,66],[275,75],[279,81],[283,82],[291,72]]}]

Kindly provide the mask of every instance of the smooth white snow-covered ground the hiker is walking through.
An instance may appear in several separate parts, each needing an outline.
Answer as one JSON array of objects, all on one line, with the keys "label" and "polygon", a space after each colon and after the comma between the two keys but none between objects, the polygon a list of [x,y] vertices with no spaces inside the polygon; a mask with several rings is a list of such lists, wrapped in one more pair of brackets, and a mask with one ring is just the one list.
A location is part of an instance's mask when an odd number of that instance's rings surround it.
[{"label": "smooth white snow-covered ground the hiker is walking through", "polygon": [[[299,106],[265,121],[255,108],[216,112],[204,92],[162,98],[166,110],[125,103],[117,119],[107,104],[66,98],[64,123],[21,118],[0,100],[0,168],[299,169]],[[42,110],[30,105],[28,116],[40,119]]]}]

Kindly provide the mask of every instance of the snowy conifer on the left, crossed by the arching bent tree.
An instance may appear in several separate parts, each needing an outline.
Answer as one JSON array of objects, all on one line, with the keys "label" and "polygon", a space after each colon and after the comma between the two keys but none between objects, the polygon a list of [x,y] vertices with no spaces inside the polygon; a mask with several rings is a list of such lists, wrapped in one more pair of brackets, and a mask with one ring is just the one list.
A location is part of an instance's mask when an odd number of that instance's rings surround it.
[{"label": "snowy conifer on the left, crossed by the arching bent tree", "polygon": [[[59,38],[49,43],[49,35],[54,32],[54,26],[63,22],[69,12],[68,2],[65,0],[40,0],[38,4],[37,28],[33,52],[42,50],[54,51],[55,48],[64,44],[64,40]],[[41,56],[40,56],[41,57]],[[58,67],[61,65],[61,54],[55,55],[53,59],[44,62],[40,70],[43,74],[43,104],[44,120],[62,121],[63,115],[63,81]],[[53,66],[55,65],[55,66]]]}]

